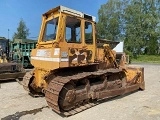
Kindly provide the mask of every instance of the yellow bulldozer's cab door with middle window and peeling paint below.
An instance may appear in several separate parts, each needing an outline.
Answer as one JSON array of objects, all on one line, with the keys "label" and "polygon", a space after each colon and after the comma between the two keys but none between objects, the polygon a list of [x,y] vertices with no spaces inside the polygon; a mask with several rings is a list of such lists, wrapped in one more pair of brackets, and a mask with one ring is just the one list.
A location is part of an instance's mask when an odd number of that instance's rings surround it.
[{"label": "yellow bulldozer's cab door with middle window and peeling paint below", "polygon": [[[72,15],[65,16],[65,40],[61,48],[61,62],[67,57],[68,66],[80,66],[86,64],[85,55],[82,51],[82,18]],[[66,53],[67,52],[67,53]],[[64,59],[64,60],[63,60]]]}]

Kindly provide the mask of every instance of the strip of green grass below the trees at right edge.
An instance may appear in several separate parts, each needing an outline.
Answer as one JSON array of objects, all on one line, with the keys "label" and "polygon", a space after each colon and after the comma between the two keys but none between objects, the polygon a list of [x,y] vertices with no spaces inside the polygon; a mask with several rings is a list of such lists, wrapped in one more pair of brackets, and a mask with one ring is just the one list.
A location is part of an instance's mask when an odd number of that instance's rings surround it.
[{"label": "strip of green grass below the trees at right edge", "polygon": [[139,55],[137,59],[132,58],[132,63],[159,63],[160,55]]}]

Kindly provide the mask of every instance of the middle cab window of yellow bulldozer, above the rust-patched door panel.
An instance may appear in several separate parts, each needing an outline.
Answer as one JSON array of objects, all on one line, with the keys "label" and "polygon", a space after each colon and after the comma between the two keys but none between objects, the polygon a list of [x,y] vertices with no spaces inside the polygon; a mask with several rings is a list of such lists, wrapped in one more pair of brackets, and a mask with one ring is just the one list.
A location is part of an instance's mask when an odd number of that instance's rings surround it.
[{"label": "middle cab window of yellow bulldozer, above the rust-patched door panel", "polygon": [[75,17],[66,17],[66,41],[68,43],[81,42],[81,21]]}]

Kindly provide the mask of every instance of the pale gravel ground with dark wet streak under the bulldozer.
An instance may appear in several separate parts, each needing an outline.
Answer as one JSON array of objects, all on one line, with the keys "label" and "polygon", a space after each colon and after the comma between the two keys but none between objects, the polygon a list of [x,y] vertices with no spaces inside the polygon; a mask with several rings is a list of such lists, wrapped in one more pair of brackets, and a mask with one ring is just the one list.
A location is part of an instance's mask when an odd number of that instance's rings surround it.
[{"label": "pale gravel ground with dark wet streak under the bulldozer", "polygon": [[17,82],[2,83],[2,120],[160,120],[160,65],[145,68],[146,90],[116,97],[71,117],[48,108],[44,97],[32,98]]}]

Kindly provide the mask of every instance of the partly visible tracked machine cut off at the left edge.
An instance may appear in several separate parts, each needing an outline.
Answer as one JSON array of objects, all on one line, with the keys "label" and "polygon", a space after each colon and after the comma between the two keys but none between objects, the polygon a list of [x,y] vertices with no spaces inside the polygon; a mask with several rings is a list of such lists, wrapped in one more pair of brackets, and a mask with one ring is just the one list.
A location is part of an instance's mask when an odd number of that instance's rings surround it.
[{"label": "partly visible tracked machine cut off at the left edge", "polygon": [[9,58],[9,40],[0,37],[0,81],[23,79],[25,69]]}]

